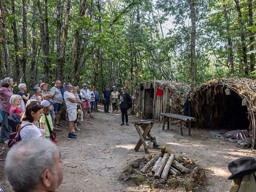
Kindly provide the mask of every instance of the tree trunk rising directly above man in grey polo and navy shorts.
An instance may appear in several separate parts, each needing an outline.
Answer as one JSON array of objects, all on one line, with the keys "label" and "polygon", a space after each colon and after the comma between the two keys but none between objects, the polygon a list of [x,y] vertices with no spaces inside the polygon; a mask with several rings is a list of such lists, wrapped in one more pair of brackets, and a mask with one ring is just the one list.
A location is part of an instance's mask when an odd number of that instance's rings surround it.
[{"label": "tree trunk rising directly above man in grey polo and navy shorts", "polygon": [[65,24],[64,24],[63,35],[62,35],[62,43],[60,46],[60,57],[58,58],[58,79],[60,81],[63,81],[63,68],[65,64],[66,46],[67,46],[67,38],[68,38],[68,22],[69,22],[70,4],[71,4],[71,0],[67,0]]}]

